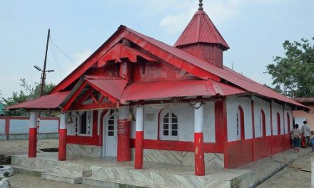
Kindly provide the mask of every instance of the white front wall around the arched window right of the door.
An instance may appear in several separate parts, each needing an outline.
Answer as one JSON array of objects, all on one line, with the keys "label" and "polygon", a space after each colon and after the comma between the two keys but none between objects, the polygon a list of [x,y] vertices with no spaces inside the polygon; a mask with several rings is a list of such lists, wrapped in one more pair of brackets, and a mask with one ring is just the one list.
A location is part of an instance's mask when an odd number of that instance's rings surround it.
[{"label": "white front wall around the arched window right of the door", "polygon": [[[194,109],[188,104],[175,105],[145,105],[144,106],[144,138],[157,140],[158,137],[158,113],[166,107],[170,107],[178,115],[178,140],[194,141]],[[204,106],[204,142],[215,142],[215,109],[214,103],[206,103]],[[135,110],[133,108],[133,114]],[[146,114],[153,114],[152,119],[146,119]],[[131,138],[135,138],[135,122],[131,126]]]}]

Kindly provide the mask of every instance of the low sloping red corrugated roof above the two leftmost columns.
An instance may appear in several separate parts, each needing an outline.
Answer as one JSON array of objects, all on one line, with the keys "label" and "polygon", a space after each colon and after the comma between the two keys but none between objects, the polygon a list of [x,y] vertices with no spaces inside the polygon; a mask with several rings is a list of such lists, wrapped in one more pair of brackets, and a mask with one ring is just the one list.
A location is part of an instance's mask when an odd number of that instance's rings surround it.
[{"label": "low sloping red corrugated roof above the two leftmost columns", "polygon": [[16,105],[11,105],[6,108],[6,110],[14,110],[18,108],[24,109],[42,109],[42,110],[54,110],[59,108],[61,102],[69,95],[70,91],[61,91],[58,93],[53,93],[50,95],[44,95],[42,97],[36,98],[34,100],[29,100],[24,103],[19,103]]}]

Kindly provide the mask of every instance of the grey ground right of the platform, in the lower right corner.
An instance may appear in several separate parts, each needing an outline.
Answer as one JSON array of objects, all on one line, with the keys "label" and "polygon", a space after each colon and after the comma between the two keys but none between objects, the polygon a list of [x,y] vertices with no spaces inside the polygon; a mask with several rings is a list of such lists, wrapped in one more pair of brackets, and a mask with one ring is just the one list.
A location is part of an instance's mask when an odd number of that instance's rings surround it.
[{"label": "grey ground right of the platform, in the lower right corner", "polygon": [[[314,153],[300,157],[300,159],[293,162],[293,164],[295,167],[302,167],[302,169],[310,170],[311,157],[314,157]],[[283,170],[258,186],[258,188],[266,187],[310,187],[310,172],[295,170],[289,166],[285,167]]]}]

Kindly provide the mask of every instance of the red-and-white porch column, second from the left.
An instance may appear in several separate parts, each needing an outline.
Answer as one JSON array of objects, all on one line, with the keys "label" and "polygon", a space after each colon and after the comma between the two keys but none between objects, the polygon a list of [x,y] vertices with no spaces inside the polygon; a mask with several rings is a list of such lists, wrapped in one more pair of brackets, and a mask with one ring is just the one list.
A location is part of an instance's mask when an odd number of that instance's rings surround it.
[{"label": "red-and-white porch column, second from the left", "polygon": [[58,160],[66,160],[66,113],[60,113]]}]

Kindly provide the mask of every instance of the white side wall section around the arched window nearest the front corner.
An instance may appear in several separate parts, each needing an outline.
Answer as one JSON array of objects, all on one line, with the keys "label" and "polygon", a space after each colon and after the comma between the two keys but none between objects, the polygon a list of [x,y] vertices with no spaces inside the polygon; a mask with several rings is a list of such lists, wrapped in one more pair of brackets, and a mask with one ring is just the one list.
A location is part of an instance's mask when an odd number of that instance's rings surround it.
[{"label": "white side wall section around the arched window nearest the front corner", "polygon": [[251,100],[246,97],[229,96],[226,98],[227,106],[227,129],[228,129],[228,142],[236,141],[236,112],[238,106],[241,105],[244,113],[244,135],[245,139],[250,139],[253,136],[252,131],[252,111]]}]

